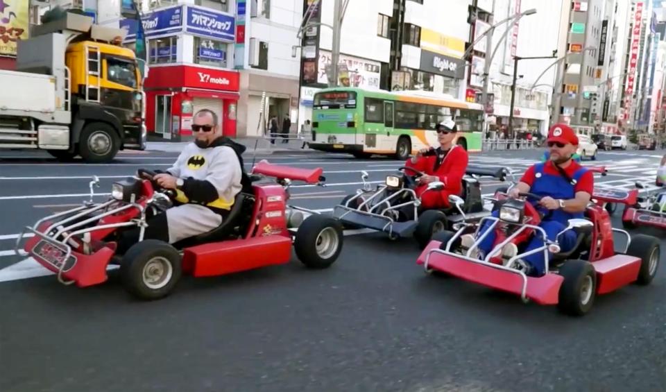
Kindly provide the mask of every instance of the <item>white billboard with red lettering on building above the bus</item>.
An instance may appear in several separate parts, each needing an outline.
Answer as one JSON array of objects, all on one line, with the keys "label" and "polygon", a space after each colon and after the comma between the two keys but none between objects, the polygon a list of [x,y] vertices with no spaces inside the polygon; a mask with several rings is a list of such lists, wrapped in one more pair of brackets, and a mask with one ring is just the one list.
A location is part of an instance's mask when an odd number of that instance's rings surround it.
[{"label": "white billboard with red lettering on building above the bus", "polygon": [[[340,85],[379,90],[379,79],[382,76],[382,64],[380,62],[340,55],[340,63],[346,66],[345,75],[348,76],[348,79],[340,81]],[[328,84],[326,67],[330,64],[331,52],[319,51],[318,83]],[[343,67],[340,68],[343,69]]]}]

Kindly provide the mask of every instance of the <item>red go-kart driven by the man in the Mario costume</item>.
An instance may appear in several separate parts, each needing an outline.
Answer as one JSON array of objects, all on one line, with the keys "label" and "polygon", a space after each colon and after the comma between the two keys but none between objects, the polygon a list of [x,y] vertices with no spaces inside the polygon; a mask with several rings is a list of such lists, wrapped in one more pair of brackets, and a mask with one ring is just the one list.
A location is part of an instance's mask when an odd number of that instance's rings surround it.
[{"label": "red go-kart driven by the man in the Mario costume", "polygon": [[[562,252],[558,241],[547,240],[545,230],[538,226],[544,212],[523,200],[498,196],[499,217],[488,216],[476,224],[473,244],[463,247],[464,229],[438,233],[422,251],[417,263],[428,273],[454,275],[517,294],[525,302],[557,305],[562,312],[572,315],[588,313],[599,294],[610,293],[632,282],[649,284],[654,278],[660,260],[659,240],[647,235],[631,237],[624,230],[612,228],[610,216],[601,205],[590,203],[586,219],[569,221],[566,230],[574,230],[577,241],[574,248]],[[521,196],[540,198],[533,194]],[[613,198],[605,200],[621,202]],[[484,221],[490,222],[490,228],[479,237]],[[482,255],[478,246],[491,230],[497,235],[493,250]],[[626,236],[627,244],[622,253],[615,252],[613,232]],[[546,241],[540,248],[526,253],[525,247],[534,235]],[[505,251],[513,248],[509,244],[515,244],[517,253]],[[522,258],[538,252],[544,254],[547,272],[542,276],[528,276],[524,273]],[[550,259],[549,252],[552,253]]]}]

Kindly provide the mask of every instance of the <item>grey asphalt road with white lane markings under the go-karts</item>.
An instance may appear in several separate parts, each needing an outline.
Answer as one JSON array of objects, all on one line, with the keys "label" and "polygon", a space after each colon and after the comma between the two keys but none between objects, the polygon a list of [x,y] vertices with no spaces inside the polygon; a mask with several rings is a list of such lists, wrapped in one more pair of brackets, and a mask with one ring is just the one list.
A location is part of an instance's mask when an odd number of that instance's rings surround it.
[{"label": "grey asphalt road with white lane markings under the go-karts", "polygon": [[[662,153],[599,153],[595,164],[611,174],[597,183],[654,183]],[[520,172],[539,155],[471,160]],[[108,192],[113,180],[167,167],[176,154],[121,154],[104,165],[40,156],[0,152],[1,391],[666,391],[664,266],[651,286],[597,298],[584,318],[427,276],[414,241],[377,234],[345,237],[325,271],[293,257],[286,266],[185,278],[157,302],[128,298],[114,272],[88,289],[63,287],[52,275],[26,278],[30,260],[11,254],[24,225],[87,199],[92,175],[101,179],[96,191]],[[327,187],[292,189],[293,204],[323,211],[360,186],[359,171],[382,181],[401,163],[262,158],[323,167]],[[482,190],[498,185],[486,181]]]}]

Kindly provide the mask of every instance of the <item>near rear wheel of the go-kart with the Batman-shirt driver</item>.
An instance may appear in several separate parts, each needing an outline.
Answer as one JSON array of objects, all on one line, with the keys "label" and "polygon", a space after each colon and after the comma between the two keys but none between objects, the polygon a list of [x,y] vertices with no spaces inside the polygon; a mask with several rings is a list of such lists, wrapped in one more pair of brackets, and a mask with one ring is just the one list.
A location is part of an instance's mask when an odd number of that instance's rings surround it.
[{"label": "near rear wheel of the go-kart with the Batman-shirt driver", "polygon": [[339,221],[324,215],[311,215],[298,228],[293,248],[300,262],[312,269],[331,266],[342,251],[343,234]]}]

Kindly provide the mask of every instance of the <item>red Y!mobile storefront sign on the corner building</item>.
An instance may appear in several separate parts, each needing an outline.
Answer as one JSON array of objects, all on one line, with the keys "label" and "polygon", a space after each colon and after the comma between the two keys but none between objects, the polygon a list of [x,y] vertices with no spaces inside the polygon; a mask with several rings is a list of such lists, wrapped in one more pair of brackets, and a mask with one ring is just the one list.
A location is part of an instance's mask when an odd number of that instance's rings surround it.
[{"label": "red Y!mobile storefront sign on the corner building", "polygon": [[240,74],[226,69],[173,65],[151,67],[146,78],[146,89],[192,87],[206,90],[237,92]]}]

